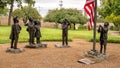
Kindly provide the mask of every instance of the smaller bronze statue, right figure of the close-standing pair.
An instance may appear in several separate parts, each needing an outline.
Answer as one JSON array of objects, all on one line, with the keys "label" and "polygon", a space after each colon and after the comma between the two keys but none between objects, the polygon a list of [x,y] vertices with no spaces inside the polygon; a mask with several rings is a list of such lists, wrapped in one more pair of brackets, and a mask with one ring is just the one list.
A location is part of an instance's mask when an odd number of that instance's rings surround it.
[{"label": "smaller bronze statue, right figure of the close-standing pair", "polygon": [[35,20],[34,23],[35,23],[35,38],[36,38],[36,42],[37,42],[37,44],[40,44],[40,37],[41,37],[40,27],[41,27],[41,22],[38,21],[38,20]]}]

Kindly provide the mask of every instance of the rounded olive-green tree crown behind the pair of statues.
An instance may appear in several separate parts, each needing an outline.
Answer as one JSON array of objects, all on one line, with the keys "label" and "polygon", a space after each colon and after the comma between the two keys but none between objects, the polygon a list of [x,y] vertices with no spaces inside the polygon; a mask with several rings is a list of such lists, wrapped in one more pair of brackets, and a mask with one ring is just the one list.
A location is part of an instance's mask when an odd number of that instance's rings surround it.
[{"label": "rounded olive-green tree crown behind the pair of statues", "polygon": [[16,9],[13,11],[12,16],[19,16],[20,18],[25,18],[26,16],[30,16],[33,19],[42,19],[42,16],[39,14],[36,8],[25,6],[23,9]]}]

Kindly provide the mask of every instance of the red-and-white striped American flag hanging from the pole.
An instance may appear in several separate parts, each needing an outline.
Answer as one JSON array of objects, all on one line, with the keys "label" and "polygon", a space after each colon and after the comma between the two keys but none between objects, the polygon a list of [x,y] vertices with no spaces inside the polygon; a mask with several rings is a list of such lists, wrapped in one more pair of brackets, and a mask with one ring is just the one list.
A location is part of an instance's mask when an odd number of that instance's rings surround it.
[{"label": "red-and-white striped American flag hanging from the pole", "polygon": [[88,30],[90,30],[94,25],[94,8],[95,8],[95,0],[86,0],[86,3],[84,5],[84,11],[90,17],[90,21],[88,23]]}]

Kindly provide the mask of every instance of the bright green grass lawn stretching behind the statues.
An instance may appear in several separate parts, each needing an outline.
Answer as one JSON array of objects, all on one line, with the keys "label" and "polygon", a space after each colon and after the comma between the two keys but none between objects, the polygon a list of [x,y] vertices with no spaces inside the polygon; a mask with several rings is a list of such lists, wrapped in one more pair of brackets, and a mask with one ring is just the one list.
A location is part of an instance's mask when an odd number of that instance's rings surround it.
[{"label": "bright green grass lawn stretching behind the statues", "polygon": [[[22,27],[19,42],[28,41],[28,32],[26,31],[27,27]],[[0,26],[0,43],[9,43],[9,35],[11,32],[10,26]],[[61,41],[62,40],[62,30],[54,28],[41,28],[42,38],[41,41]],[[93,40],[93,31],[88,30],[69,30],[69,41],[72,41],[73,38],[82,38],[88,41]],[[97,41],[99,41],[99,34],[97,33]],[[110,36],[108,35],[108,42],[111,43],[120,43],[120,36]]]}]

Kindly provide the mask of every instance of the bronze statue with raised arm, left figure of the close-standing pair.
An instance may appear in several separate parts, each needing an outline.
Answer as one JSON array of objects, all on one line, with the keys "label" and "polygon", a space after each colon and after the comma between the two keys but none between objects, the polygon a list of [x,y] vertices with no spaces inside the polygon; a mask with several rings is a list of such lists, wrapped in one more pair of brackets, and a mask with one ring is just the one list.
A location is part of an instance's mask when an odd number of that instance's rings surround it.
[{"label": "bronze statue with raised arm, left figure of the close-standing pair", "polygon": [[28,23],[26,23],[25,20],[23,20],[23,21],[24,21],[25,26],[28,26],[27,31],[29,33],[29,45],[33,45],[33,44],[35,44],[34,43],[35,24],[34,24],[34,21],[31,17],[28,17],[28,19],[29,19]]}]

